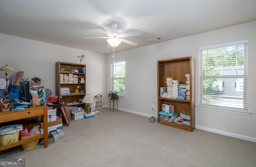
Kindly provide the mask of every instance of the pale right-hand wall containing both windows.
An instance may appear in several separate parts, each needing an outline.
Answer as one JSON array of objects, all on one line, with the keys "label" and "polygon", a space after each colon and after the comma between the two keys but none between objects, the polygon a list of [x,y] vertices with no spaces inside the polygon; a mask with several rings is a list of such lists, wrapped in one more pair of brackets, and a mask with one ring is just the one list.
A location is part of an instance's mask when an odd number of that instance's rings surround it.
[{"label": "pale right-hand wall containing both windows", "polygon": [[[198,47],[249,39],[249,96],[250,116],[196,108],[196,128],[256,142],[256,111],[254,89],[256,83],[256,22],[232,26],[166,41],[146,47],[115,53],[115,60],[126,60],[126,98],[118,101],[118,108],[144,116],[157,116],[157,60],[176,57],[195,57],[196,105],[198,105]],[[163,37],[164,38],[164,37]],[[110,61],[107,59],[107,91],[110,90]]]}]

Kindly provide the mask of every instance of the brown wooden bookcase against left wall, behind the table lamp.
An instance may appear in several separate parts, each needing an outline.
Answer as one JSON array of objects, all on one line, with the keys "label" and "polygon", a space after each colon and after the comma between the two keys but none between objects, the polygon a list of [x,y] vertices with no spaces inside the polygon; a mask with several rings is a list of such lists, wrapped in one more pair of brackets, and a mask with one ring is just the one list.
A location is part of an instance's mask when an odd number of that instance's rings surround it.
[{"label": "brown wooden bookcase against left wall, behind the table lamp", "polygon": [[[75,63],[64,63],[64,62],[56,62],[56,95],[59,98],[59,102],[61,102],[60,97],[62,97],[62,101],[64,103],[75,102],[77,99],[84,98],[86,95],[86,65],[75,64]],[[70,70],[72,69],[83,69],[83,73],[73,73],[73,75],[77,75],[79,78],[84,78],[84,83],[60,83],[60,74],[70,74],[72,73]],[[62,71],[61,69],[64,69]],[[84,93],[75,94],[76,86],[80,86],[79,89],[84,89]],[[68,95],[61,95],[60,88],[68,87],[70,89],[70,93]],[[73,104],[70,106],[82,106],[85,108],[85,103]]]}]

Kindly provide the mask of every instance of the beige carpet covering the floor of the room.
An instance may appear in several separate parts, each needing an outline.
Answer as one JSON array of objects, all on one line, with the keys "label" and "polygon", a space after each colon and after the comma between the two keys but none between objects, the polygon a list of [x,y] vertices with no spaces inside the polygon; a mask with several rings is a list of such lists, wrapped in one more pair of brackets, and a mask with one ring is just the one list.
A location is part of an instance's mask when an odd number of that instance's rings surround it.
[{"label": "beige carpet covering the floor of the room", "polygon": [[44,148],[1,151],[26,167],[255,167],[256,143],[195,129],[187,132],[109,108],[63,125],[64,138]]}]

